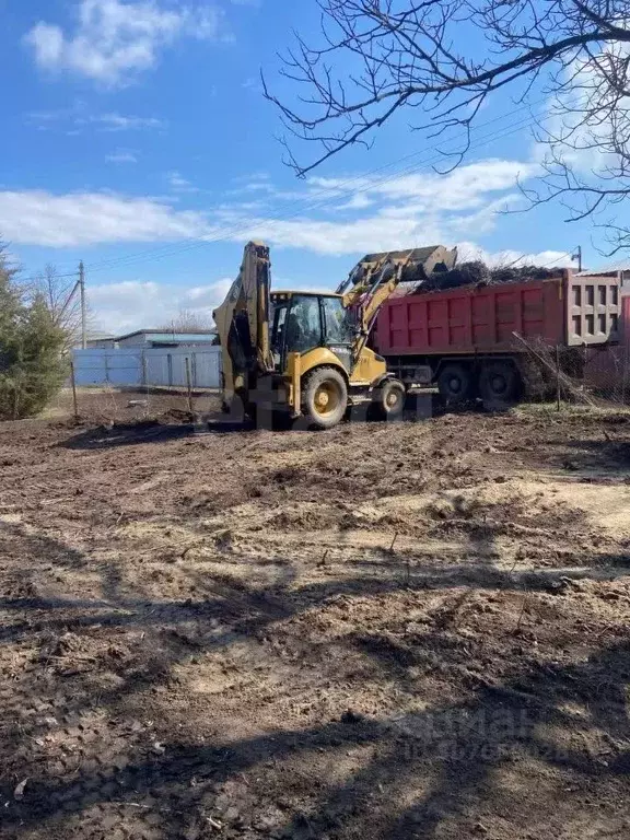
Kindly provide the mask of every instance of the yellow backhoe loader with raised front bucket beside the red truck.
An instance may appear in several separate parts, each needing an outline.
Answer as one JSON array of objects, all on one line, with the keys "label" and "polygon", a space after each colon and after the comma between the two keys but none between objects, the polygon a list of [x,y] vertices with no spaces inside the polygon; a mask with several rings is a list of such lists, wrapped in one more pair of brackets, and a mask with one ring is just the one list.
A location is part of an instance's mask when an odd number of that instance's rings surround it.
[{"label": "yellow backhoe loader with raised front bucket beside the red truck", "polygon": [[360,402],[383,419],[405,405],[405,385],[368,347],[384,301],[400,282],[453,268],[439,246],[364,257],[335,293],[271,291],[269,248],[245,246],[243,265],[214,312],[223,361],[223,407],[304,417],[330,429]]}]

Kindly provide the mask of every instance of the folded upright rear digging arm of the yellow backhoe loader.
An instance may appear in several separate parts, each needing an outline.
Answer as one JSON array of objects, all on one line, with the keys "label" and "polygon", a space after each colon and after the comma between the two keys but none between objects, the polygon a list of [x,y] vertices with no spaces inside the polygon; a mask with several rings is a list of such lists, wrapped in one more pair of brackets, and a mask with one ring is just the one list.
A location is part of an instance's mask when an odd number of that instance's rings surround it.
[{"label": "folded upright rear digging arm of the yellow backhoe loader", "polygon": [[222,349],[224,401],[247,392],[250,374],[273,370],[269,348],[269,248],[259,242],[245,246],[238,277],[213,312]]}]

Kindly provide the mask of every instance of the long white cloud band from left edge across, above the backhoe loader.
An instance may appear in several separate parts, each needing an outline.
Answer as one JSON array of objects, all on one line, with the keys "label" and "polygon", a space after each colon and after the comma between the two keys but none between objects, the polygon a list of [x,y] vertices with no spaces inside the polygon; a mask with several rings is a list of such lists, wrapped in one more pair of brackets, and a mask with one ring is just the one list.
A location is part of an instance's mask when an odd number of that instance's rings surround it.
[{"label": "long white cloud band from left edge across, above the backhoe loader", "polygon": [[[526,164],[480,161],[451,176],[398,176],[365,182],[358,188],[341,179],[319,179],[299,194],[301,201],[277,203],[273,185],[252,179],[245,201],[206,211],[175,209],[187,192],[201,191],[179,172],[168,174],[170,199],[118,194],[54,195],[46,191],[0,191],[0,231],[15,243],[54,247],[97,243],[160,242],[202,238],[243,243],[268,241],[275,247],[315,254],[445,245],[477,240],[497,225],[498,211],[517,199],[510,190]],[[247,189],[255,186],[255,189]],[[317,187],[318,192],[313,194]],[[320,191],[327,198],[322,200]],[[176,194],[176,195],[173,195]],[[260,195],[264,200],[252,200]],[[316,200],[313,200],[316,198]],[[339,217],[337,212],[343,212]]]}]

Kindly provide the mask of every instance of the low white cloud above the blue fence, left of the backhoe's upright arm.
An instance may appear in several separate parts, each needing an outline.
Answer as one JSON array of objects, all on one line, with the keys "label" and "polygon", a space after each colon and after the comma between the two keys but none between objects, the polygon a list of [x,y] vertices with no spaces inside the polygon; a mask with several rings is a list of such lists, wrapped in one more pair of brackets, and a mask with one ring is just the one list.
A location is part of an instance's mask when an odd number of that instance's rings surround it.
[{"label": "low white cloud above the blue fence, left of the backhoe's upright arm", "polygon": [[214,280],[206,285],[176,287],[147,280],[88,285],[90,308],[100,328],[114,335],[159,327],[185,310],[210,320],[223,301],[233,279]]}]

